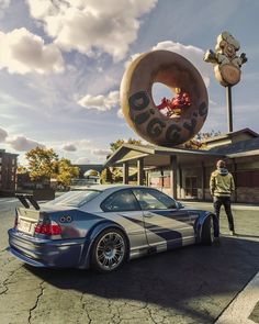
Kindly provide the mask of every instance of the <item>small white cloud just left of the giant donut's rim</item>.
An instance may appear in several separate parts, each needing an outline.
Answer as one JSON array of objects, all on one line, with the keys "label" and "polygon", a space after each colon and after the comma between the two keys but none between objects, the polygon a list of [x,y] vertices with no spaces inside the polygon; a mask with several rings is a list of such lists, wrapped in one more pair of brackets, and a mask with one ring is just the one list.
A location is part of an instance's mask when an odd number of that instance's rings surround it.
[{"label": "small white cloud just left of the giant donut's rim", "polygon": [[106,97],[103,94],[91,96],[86,94],[77,103],[86,109],[97,109],[99,111],[111,110],[113,107],[116,107],[120,101],[119,91],[112,91]]}]

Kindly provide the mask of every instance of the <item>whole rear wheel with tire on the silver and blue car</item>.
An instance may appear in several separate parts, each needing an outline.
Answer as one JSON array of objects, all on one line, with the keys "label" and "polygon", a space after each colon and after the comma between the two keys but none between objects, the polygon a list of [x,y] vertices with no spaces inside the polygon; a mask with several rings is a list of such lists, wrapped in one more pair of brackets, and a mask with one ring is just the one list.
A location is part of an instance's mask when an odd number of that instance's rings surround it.
[{"label": "whole rear wheel with tire on the silver and blue car", "polygon": [[91,266],[99,272],[111,272],[125,261],[127,242],[122,231],[108,228],[101,232],[92,246]]}]

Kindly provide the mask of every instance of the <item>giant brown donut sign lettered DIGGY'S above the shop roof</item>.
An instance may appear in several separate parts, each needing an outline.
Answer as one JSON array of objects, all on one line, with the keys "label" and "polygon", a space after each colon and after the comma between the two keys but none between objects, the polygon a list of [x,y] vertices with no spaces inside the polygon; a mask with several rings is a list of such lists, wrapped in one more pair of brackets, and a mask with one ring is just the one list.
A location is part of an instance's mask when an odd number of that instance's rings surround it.
[{"label": "giant brown donut sign lettered DIGGY'S above the shop roof", "polygon": [[[180,115],[164,114],[153,99],[153,85],[164,83],[188,93]],[[209,108],[206,87],[198,69],[169,51],[142,54],[126,69],[120,90],[130,126],[149,143],[172,147],[191,139],[202,127]],[[161,107],[164,108],[164,107]]]}]

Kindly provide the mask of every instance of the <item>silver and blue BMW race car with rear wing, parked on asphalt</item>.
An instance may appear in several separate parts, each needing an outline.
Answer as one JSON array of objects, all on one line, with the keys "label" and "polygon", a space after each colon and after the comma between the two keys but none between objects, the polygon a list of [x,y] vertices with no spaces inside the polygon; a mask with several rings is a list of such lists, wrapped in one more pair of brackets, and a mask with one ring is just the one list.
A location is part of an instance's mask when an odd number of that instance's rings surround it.
[{"label": "silver and blue BMW race car with rear wing, parked on asphalt", "polygon": [[112,271],[126,260],[194,243],[211,245],[216,216],[159,190],[92,186],[37,204],[20,195],[9,250],[35,267]]}]

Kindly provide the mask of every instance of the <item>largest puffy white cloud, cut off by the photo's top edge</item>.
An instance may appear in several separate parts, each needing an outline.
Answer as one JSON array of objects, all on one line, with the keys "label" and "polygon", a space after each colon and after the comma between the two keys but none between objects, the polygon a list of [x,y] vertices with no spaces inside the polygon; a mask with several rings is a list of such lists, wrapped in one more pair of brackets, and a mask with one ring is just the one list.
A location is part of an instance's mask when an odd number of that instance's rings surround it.
[{"label": "largest puffy white cloud, cut off by the photo's top edge", "polygon": [[142,15],[157,0],[27,0],[31,15],[65,51],[77,49],[88,56],[101,52],[115,60],[125,57],[136,37]]}]

